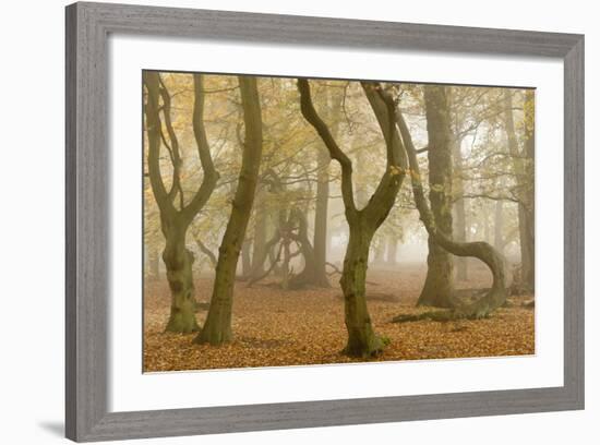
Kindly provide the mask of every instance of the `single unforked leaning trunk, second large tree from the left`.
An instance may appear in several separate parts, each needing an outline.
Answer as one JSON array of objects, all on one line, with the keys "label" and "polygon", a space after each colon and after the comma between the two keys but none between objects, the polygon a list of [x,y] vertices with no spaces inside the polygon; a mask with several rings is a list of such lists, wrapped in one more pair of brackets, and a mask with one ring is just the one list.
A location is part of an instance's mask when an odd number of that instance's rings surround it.
[{"label": "single unforked leaning trunk, second large tree from the left", "polygon": [[245,141],[231,215],[219,248],[213,297],[206,322],[195,342],[221,345],[231,340],[231,309],[238,258],[252,213],[263,152],[263,123],[256,77],[239,76]]}]

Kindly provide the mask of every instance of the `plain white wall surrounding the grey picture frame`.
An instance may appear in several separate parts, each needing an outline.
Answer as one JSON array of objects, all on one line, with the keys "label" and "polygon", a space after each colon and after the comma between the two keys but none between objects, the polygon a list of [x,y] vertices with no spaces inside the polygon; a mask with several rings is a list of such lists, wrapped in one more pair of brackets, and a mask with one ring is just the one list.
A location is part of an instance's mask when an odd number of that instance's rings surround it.
[{"label": "plain white wall surrounding the grey picture frame", "polygon": [[[147,4],[389,20],[467,26],[524,28],[586,34],[587,101],[600,98],[600,29],[593,2],[422,0],[420,2],[335,2],[333,0],[197,0]],[[63,84],[62,0],[10,2],[2,8],[0,52],[0,410],[2,443],[59,443],[63,418]],[[598,227],[593,167],[600,141],[593,132],[597,107],[587,107],[587,227]],[[595,205],[596,204],[596,205]],[[587,276],[599,265],[597,231],[587,234]],[[588,279],[586,310],[587,409],[576,412],[437,420],[202,437],[204,444],[399,443],[502,444],[598,441],[600,286]],[[540,370],[543,372],[543,370]],[[191,388],[201,390],[201,388]],[[401,442],[400,442],[401,441]],[[197,437],[136,441],[137,444],[192,444]]]}]

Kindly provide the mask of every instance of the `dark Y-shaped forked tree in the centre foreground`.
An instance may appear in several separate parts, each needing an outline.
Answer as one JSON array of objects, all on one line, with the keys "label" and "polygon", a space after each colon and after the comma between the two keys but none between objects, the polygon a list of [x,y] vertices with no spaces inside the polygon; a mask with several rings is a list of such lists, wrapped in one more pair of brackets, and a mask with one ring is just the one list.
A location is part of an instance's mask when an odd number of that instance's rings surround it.
[{"label": "dark Y-shaped forked tree in the centre foreground", "polygon": [[363,82],[362,88],[384,135],[387,168],[375,192],[367,205],[359,211],[355,203],[352,163],[316,112],[309,82],[304,79],[298,80],[302,115],[323,140],[329,156],[341,168],[341,199],[350,229],[339,280],[344,293],[345,322],[348,330],[348,342],[344,352],[350,357],[367,358],[381,352],[384,347],[384,341],[375,334],[367,308],[365,279],[369,249],[373,234],[394,206],[406,175],[407,161],[406,157],[401,156],[404,148],[400,146],[401,140],[395,127],[394,99],[379,83]]}]

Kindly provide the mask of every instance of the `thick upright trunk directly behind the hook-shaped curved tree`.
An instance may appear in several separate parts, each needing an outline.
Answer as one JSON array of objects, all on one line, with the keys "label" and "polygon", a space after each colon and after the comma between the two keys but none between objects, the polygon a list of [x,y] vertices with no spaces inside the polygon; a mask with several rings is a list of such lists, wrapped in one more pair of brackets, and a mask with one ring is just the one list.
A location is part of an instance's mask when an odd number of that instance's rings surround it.
[{"label": "thick upright trunk directly behind the hook-shaped curved tree", "polygon": [[[435,225],[452,237],[452,133],[444,86],[425,86],[425,113],[429,135],[429,200]],[[451,254],[428,239],[428,274],[417,305],[451,308],[454,272]]]}]

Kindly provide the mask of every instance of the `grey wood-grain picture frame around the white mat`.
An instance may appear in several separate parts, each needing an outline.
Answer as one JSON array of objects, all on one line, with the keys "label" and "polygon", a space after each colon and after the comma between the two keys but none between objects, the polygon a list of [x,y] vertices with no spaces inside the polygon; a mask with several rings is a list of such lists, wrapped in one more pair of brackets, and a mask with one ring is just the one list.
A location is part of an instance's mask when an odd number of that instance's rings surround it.
[{"label": "grey wood-grain picture frame around the white mat", "polygon": [[[110,33],[562,59],[564,385],[423,396],[109,412],[107,303],[110,252],[107,179],[110,171],[107,135],[107,39]],[[65,105],[67,437],[77,442],[123,440],[584,408],[583,35],[75,3],[67,7]]]}]

